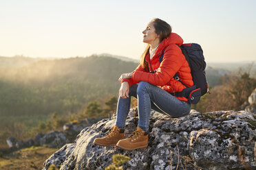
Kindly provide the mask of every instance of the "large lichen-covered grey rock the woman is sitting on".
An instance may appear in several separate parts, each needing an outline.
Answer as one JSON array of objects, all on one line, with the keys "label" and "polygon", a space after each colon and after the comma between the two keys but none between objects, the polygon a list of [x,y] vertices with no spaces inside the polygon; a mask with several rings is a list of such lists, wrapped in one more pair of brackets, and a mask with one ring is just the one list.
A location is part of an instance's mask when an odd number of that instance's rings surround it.
[{"label": "large lichen-covered grey rock the woman is sitting on", "polygon": [[[185,117],[171,118],[151,112],[149,146],[145,151],[125,151],[94,145],[114,126],[115,117],[103,119],[78,134],[45,160],[43,169],[105,169],[114,154],[131,160],[123,169],[256,169],[256,120],[246,111],[218,111],[202,114],[191,110]],[[128,117],[125,136],[134,131],[138,117]]]}]

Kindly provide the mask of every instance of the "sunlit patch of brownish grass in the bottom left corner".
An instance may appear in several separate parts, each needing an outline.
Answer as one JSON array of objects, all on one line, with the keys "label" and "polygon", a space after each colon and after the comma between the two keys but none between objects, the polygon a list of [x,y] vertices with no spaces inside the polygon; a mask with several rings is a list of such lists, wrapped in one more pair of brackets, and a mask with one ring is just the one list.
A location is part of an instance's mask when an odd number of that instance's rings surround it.
[{"label": "sunlit patch of brownish grass in the bottom left corner", "polygon": [[57,150],[47,147],[30,147],[15,151],[14,154],[3,155],[0,158],[0,169],[42,169],[43,162]]}]

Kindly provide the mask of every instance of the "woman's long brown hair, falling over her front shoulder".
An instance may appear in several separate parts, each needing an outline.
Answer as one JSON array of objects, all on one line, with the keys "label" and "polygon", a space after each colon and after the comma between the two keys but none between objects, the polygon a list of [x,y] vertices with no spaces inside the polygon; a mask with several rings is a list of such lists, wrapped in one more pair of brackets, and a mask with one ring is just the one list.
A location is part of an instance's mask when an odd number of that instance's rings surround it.
[{"label": "woman's long brown hair, falling over her front shoulder", "polygon": [[[155,32],[160,36],[160,42],[164,40],[164,38],[167,38],[171,34],[171,26],[161,19],[152,19],[150,23],[153,23],[153,27],[155,27]],[[148,64],[145,61],[145,57],[147,56],[147,53],[149,53],[149,47],[150,45],[147,45],[145,51],[140,56],[140,64],[142,65],[143,69],[148,68]]]}]

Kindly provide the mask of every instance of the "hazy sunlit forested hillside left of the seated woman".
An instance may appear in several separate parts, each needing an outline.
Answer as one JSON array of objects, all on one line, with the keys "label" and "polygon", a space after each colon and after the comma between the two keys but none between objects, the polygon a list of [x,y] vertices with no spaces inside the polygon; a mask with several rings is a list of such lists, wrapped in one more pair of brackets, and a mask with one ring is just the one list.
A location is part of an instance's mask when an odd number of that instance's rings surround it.
[{"label": "hazy sunlit forested hillside left of the seated woman", "polygon": [[93,99],[117,95],[118,77],[137,65],[92,56],[0,68],[0,115],[76,112]]}]

